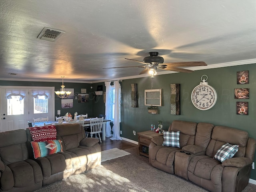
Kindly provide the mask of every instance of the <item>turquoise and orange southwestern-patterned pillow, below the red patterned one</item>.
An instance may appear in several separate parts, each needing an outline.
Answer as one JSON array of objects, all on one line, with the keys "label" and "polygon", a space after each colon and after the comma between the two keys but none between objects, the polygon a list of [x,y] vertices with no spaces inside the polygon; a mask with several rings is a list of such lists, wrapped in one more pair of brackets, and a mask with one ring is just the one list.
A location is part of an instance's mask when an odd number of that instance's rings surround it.
[{"label": "turquoise and orange southwestern-patterned pillow, below the red patterned one", "polygon": [[60,140],[52,140],[45,142],[31,142],[34,158],[45,157],[58,152],[63,152]]}]

